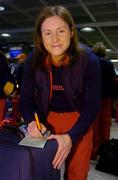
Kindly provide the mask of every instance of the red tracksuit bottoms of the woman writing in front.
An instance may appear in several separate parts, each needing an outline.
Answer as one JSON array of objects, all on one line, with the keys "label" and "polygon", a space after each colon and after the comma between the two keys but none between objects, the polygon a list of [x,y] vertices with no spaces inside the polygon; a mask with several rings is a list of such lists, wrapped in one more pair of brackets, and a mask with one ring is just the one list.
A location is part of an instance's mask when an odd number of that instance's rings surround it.
[{"label": "red tracksuit bottoms of the woman writing in front", "polygon": [[[56,134],[66,133],[75,124],[78,112],[50,112],[47,122]],[[92,128],[73,145],[65,163],[65,180],[87,180],[92,149]]]}]

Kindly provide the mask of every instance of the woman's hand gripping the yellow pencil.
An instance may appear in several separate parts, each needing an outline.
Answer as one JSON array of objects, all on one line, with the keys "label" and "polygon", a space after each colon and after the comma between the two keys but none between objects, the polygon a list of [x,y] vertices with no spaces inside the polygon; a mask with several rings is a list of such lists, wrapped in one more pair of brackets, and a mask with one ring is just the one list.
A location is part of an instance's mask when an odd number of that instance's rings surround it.
[{"label": "woman's hand gripping the yellow pencil", "polygon": [[41,130],[38,129],[36,125],[36,121],[32,121],[31,123],[28,124],[28,136],[29,137],[39,137],[42,138],[44,132],[46,131],[46,127],[41,123]]}]

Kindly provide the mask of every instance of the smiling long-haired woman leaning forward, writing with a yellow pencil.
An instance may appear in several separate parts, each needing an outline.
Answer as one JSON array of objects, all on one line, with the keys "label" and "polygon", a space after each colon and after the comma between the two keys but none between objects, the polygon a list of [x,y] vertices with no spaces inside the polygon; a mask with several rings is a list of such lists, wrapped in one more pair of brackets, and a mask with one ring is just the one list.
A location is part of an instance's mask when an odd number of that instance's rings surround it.
[{"label": "smiling long-haired woman leaning forward, writing with a yellow pencil", "polygon": [[21,113],[28,134],[41,137],[51,130],[58,150],[52,162],[60,169],[65,163],[65,179],[85,180],[92,146],[92,123],[99,110],[100,69],[92,52],[79,47],[71,14],[61,6],[44,7],[37,18],[35,50],[26,60],[21,87]]}]

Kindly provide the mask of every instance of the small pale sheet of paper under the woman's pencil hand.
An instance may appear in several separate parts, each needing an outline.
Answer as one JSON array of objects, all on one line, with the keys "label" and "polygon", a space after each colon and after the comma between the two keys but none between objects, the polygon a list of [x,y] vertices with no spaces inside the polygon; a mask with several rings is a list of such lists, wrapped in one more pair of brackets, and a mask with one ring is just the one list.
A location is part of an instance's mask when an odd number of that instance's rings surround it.
[{"label": "small pale sheet of paper under the woman's pencil hand", "polygon": [[32,138],[26,136],[20,141],[19,145],[44,148],[46,142],[46,138]]}]

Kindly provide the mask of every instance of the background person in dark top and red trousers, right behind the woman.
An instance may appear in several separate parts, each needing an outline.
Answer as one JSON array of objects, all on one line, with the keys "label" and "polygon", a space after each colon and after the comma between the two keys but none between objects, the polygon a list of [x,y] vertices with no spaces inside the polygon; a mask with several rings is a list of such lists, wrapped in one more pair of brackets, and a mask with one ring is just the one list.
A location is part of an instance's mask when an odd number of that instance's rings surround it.
[{"label": "background person in dark top and red trousers, right behind the woman", "polygon": [[116,80],[112,62],[106,58],[106,47],[103,42],[93,46],[101,65],[101,108],[93,128],[92,159],[96,159],[102,144],[110,138],[112,124],[112,98],[114,96]]}]

